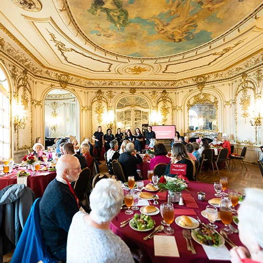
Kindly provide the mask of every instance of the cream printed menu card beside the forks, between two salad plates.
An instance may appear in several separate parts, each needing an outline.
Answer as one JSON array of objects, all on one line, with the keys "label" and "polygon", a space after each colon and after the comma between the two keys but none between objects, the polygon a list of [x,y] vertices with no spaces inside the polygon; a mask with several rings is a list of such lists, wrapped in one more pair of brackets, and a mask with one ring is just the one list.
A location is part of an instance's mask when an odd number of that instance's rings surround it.
[{"label": "cream printed menu card beside the forks, between two salad plates", "polygon": [[176,257],[179,258],[179,251],[174,236],[154,236],[155,257]]}]

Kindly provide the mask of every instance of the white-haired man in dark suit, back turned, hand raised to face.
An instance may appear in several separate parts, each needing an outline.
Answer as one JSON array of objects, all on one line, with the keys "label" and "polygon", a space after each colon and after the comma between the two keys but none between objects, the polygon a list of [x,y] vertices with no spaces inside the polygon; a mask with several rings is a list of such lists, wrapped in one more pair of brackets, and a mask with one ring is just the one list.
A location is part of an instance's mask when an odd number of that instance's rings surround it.
[{"label": "white-haired man in dark suit, back turned, hand raised to face", "polygon": [[[134,152],[135,156],[131,155]],[[139,175],[136,171],[136,164],[143,162],[142,157],[134,150],[134,144],[128,143],[125,147],[125,152],[119,157],[119,163],[122,166],[126,182],[128,182],[128,176],[134,176],[134,180],[139,180]]]}]

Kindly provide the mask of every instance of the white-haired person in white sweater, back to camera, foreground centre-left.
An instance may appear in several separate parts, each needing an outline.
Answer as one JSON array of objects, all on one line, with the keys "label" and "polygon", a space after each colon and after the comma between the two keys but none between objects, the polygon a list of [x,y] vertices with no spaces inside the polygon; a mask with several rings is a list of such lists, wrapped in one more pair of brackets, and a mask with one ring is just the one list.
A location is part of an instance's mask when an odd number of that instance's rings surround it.
[{"label": "white-haired person in white sweater, back to camera, foreground centre-left", "polygon": [[77,212],[70,225],[67,263],[134,263],[129,247],[110,230],[123,204],[121,184],[102,179],[90,195],[91,213]]}]

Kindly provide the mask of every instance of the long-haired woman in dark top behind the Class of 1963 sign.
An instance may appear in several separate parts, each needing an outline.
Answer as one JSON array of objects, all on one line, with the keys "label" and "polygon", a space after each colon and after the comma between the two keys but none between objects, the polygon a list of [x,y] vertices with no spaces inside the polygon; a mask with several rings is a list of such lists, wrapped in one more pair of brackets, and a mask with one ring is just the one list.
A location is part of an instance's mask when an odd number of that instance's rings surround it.
[{"label": "long-haired woman in dark top behind the Class of 1963 sign", "polygon": [[193,180],[193,174],[195,173],[194,161],[189,157],[186,147],[182,143],[174,143],[171,150],[171,161],[165,170],[165,174],[174,177],[175,174],[170,174],[171,164],[186,164],[186,177],[188,180]]}]

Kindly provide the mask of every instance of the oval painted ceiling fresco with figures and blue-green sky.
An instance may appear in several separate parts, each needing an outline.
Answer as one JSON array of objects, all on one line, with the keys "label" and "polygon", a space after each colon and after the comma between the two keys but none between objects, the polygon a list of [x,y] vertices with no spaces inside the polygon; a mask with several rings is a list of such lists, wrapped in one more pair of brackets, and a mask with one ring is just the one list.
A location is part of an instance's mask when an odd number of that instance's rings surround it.
[{"label": "oval painted ceiling fresco with figures and blue-green sky", "polygon": [[67,0],[82,32],[105,50],[171,56],[225,33],[262,0]]}]

